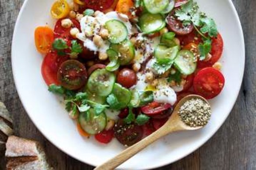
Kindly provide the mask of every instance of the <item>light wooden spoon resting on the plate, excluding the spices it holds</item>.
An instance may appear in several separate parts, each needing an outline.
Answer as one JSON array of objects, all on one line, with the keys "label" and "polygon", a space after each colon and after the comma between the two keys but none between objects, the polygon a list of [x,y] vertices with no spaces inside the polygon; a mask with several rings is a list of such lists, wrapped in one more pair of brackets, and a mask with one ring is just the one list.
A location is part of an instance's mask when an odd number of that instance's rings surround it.
[{"label": "light wooden spoon resting on the plate, excluding the spices it holds", "polygon": [[[206,103],[208,101],[199,95],[188,95],[185,98],[181,99],[180,102],[176,105],[171,117],[168,121],[158,129],[156,132],[152,133],[145,139],[142,139],[140,142],[135,143],[133,146],[128,147],[126,150],[122,151],[120,154],[108,160],[106,163],[96,167],[94,170],[114,170],[114,168],[118,167],[126,160],[130,159],[139,151],[143,150],[146,146],[149,146],[151,143],[155,142],[157,139],[166,136],[167,134],[184,131],[184,130],[197,130],[201,129],[203,126],[198,127],[190,127],[187,126],[184,122],[181,121],[180,117],[178,116],[178,111],[180,107],[190,99],[202,99]],[[209,104],[209,103],[208,103]]]}]

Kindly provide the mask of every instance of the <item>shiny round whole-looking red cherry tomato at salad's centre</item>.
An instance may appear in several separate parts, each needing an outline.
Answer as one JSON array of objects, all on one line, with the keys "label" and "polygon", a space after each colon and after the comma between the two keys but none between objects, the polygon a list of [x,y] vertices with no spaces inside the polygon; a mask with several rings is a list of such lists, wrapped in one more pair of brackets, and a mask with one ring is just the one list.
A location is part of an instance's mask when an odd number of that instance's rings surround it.
[{"label": "shiny round whole-looking red cherry tomato at salad's centre", "polygon": [[130,88],[137,82],[137,76],[131,69],[124,68],[117,75],[117,83],[121,84],[125,88]]}]

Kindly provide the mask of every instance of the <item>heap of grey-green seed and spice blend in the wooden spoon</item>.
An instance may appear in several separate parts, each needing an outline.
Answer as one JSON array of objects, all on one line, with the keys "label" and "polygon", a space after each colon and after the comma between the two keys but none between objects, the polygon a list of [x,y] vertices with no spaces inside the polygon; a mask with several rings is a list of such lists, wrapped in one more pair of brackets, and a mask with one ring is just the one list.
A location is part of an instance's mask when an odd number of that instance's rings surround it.
[{"label": "heap of grey-green seed and spice blend in the wooden spoon", "polygon": [[202,99],[190,99],[181,106],[178,115],[190,127],[205,126],[211,117],[211,107]]}]

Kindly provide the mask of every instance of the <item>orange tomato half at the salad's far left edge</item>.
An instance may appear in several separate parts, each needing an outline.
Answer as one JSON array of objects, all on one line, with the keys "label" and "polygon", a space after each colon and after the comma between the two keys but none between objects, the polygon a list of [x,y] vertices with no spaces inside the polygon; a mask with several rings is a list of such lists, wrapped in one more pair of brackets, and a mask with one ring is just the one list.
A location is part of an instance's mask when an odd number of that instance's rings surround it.
[{"label": "orange tomato half at the salad's far left edge", "polygon": [[37,27],[35,30],[36,49],[46,54],[50,51],[54,40],[53,30],[47,26]]}]

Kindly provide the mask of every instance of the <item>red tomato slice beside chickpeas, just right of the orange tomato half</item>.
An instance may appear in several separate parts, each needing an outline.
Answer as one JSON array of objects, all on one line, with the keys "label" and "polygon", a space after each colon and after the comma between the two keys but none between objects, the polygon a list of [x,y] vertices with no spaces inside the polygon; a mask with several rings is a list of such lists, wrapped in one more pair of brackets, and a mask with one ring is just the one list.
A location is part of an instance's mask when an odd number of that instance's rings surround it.
[{"label": "red tomato slice beside chickpeas, just right of the orange tomato half", "polygon": [[57,20],[56,24],[55,24],[55,27],[54,27],[54,37],[55,38],[64,38],[64,39],[74,39],[71,34],[70,34],[70,30],[72,27],[76,27],[79,29],[79,31],[81,31],[81,28],[80,28],[80,24],[77,20],[75,19],[71,19],[72,23],[73,23],[73,26],[70,27],[70,28],[64,28],[61,26],[61,20]]}]

